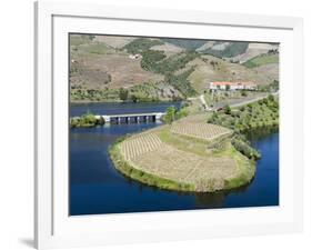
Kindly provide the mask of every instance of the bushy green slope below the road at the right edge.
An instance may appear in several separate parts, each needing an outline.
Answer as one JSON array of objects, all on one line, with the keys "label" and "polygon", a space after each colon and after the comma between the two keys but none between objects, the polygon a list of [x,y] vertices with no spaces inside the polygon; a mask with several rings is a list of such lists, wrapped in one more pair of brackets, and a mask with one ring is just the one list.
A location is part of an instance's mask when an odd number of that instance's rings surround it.
[{"label": "bushy green slope below the road at the right edge", "polygon": [[225,110],[214,112],[208,122],[230,128],[239,133],[258,128],[276,127],[279,102],[273,96],[269,96],[248,106],[232,109],[231,112],[225,112]]}]

